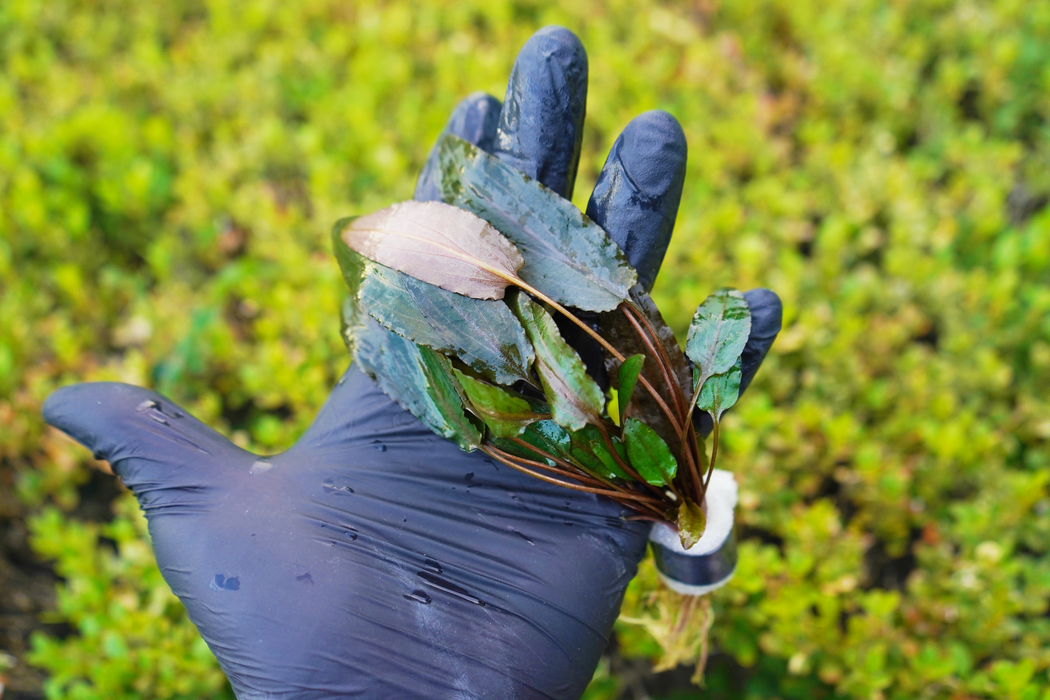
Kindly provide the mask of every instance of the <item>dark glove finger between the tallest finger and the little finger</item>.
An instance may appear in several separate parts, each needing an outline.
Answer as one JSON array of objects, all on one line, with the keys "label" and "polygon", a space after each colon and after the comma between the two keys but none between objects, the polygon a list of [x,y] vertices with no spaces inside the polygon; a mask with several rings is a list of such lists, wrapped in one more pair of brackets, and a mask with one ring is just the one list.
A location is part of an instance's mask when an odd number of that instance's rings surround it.
[{"label": "dark glove finger between the tallest finger and the little finger", "polygon": [[634,118],[613,144],[587,205],[649,291],[664,262],[686,179],[686,134],[665,111]]}]

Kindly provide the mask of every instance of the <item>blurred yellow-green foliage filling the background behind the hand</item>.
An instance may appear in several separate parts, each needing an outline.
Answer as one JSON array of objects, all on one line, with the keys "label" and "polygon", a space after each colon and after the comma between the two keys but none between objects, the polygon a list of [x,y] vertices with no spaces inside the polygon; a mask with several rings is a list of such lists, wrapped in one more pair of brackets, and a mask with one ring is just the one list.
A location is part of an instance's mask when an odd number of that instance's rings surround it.
[{"label": "blurred yellow-green foliage filling the background behind the hand", "polygon": [[28,513],[65,625],[0,649],[15,677],[230,697],[41,403],[121,380],[290,445],[348,364],[331,222],[408,198],[458,100],[556,23],[591,62],[578,205],[637,112],[688,135],[676,331],[722,285],[785,306],[727,419],[743,542],[708,690],[647,676],[620,624],[589,698],[1050,698],[1050,3],[561,4],[0,2],[0,517]]}]

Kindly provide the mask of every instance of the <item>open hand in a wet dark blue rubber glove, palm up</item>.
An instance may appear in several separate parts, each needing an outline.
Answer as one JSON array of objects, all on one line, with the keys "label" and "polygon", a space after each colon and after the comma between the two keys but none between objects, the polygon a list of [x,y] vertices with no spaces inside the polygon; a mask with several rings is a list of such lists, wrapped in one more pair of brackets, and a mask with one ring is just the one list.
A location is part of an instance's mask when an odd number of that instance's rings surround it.
[{"label": "open hand in a wet dark blue rubber glove, palm up", "polygon": [[[448,129],[568,196],[586,89],[579,40],[546,28],[505,103],[470,97]],[[677,123],[643,114],[588,207],[647,284],[685,158]],[[417,196],[432,195],[424,171]],[[763,328],[779,326],[775,295],[749,300],[748,379],[772,342]],[[44,417],[132,489],[165,580],[242,700],[578,698],[649,531],[611,501],[461,452],[354,367],[268,458],[126,384],[60,389]]]}]

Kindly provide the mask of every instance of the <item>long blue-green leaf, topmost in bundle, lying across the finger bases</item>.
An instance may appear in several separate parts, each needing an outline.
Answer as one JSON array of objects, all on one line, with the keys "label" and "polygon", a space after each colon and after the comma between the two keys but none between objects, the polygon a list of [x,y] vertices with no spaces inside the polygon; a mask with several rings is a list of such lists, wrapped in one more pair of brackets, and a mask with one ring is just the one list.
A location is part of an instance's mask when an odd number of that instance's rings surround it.
[{"label": "long blue-green leaf, topmost in bundle, lying across the finger bases", "polygon": [[521,278],[559,303],[611,311],[637,274],[620,247],[571,201],[450,133],[438,142],[438,189],[482,217],[525,257]]}]

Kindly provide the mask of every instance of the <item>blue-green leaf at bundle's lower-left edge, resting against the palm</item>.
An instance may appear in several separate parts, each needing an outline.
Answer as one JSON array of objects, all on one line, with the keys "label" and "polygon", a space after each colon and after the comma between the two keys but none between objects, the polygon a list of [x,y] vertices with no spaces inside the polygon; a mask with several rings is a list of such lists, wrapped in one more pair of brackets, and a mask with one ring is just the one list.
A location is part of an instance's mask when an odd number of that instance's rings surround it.
[{"label": "blue-green leaf at bundle's lower-left edge, resting against the palm", "polygon": [[463,397],[446,358],[387,331],[353,297],[343,303],[342,324],[354,361],[386,396],[464,450],[478,448],[481,432],[463,412]]}]

